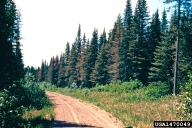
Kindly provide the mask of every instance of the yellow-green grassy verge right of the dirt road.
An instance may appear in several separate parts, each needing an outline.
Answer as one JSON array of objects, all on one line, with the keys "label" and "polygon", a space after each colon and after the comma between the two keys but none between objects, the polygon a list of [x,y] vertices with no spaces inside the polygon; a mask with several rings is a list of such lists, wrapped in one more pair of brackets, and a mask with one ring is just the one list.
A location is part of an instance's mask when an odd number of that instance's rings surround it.
[{"label": "yellow-green grassy verge right of the dirt road", "polygon": [[93,89],[70,89],[51,86],[47,89],[93,103],[112,113],[125,126],[152,128],[155,120],[179,120],[175,112],[175,103],[178,97],[172,95],[160,97],[153,94],[154,92],[149,93],[151,87],[135,89],[129,92],[105,92],[100,91],[98,87]]}]

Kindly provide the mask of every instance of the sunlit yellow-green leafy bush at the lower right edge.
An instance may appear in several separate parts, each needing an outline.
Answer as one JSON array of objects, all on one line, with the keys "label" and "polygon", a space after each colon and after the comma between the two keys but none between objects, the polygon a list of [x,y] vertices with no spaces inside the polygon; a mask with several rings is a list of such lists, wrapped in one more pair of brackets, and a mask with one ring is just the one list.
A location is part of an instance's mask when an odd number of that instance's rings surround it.
[{"label": "sunlit yellow-green leafy bush at the lower right edge", "polygon": [[177,102],[177,115],[181,120],[192,120],[192,73],[184,86],[180,87],[181,95]]}]

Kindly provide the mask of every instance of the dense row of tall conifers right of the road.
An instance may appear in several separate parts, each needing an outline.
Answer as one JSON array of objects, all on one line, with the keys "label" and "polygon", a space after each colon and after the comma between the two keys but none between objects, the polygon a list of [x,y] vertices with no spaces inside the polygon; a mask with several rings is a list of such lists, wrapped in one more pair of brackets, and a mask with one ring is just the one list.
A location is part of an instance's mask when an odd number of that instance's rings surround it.
[{"label": "dense row of tall conifers right of the road", "polygon": [[[192,70],[192,7],[189,0],[182,0],[181,4],[178,83],[186,81]],[[131,0],[127,0],[124,17],[118,15],[108,36],[105,29],[99,36],[94,28],[89,41],[79,25],[71,48],[67,43],[60,58],[52,57],[49,65],[42,62],[38,80],[58,87],[75,83],[90,88],[131,78],[146,85],[162,82],[172,92],[178,18],[177,7],[170,21],[166,9],[162,17],[159,10],[150,17],[146,0],[138,0],[133,13]]]}]

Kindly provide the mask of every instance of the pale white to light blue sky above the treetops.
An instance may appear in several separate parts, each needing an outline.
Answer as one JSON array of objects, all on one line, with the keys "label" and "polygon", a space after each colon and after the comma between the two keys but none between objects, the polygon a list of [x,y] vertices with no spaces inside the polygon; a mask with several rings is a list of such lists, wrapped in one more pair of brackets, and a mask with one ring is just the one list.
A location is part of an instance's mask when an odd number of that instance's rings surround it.
[{"label": "pale white to light blue sky above the treetops", "polygon": [[[42,60],[65,51],[74,43],[78,25],[91,40],[94,28],[99,35],[113,28],[118,14],[123,17],[126,0],[14,0],[21,12],[22,52],[25,66],[38,67]],[[147,0],[150,15],[164,8],[163,0]],[[132,0],[132,9],[137,0]]]}]

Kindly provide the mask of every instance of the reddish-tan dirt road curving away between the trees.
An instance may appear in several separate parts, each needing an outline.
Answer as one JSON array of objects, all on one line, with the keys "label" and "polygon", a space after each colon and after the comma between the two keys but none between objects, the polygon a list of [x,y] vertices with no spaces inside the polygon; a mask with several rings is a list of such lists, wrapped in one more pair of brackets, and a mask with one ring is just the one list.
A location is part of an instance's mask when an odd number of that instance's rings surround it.
[{"label": "reddish-tan dirt road curving away between the trees", "polygon": [[121,121],[100,108],[70,96],[46,91],[46,95],[55,105],[53,127],[103,127],[123,128]]}]

